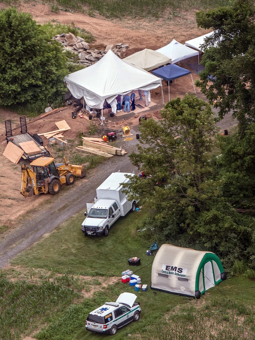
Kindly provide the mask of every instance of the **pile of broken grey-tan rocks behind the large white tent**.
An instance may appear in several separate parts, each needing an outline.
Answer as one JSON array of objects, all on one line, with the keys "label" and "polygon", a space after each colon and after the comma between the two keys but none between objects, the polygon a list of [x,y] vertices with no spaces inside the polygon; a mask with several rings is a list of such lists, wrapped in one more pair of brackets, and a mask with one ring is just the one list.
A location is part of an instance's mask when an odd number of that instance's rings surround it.
[{"label": "pile of broken grey-tan rocks behind the large white tent", "polygon": [[[109,50],[112,50],[116,55],[121,57],[121,52],[125,52],[129,47],[128,44],[117,44],[117,45],[107,45],[105,50],[97,50],[94,48],[89,48],[89,44],[86,41],[79,37],[75,36],[72,33],[62,33],[58,34],[52,38],[52,40],[59,41],[66,50],[71,50],[74,53],[77,53],[80,60],[79,63],[84,64],[86,66],[90,66],[98,62]],[[72,60],[70,60],[72,62]]]}]

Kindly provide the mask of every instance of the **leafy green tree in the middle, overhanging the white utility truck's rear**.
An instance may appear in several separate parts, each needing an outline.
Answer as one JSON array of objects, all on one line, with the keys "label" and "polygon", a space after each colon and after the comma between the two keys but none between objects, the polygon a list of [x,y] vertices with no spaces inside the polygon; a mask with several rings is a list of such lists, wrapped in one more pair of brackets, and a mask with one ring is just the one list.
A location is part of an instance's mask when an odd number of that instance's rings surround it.
[{"label": "leafy green tree in the middle, overhanging the white utility truck's rear", "polygon": [[162,117],[142,122],[138,153],[130,158],[152,177],[134,176],[130,190],[138,193],[156,227],[177,235],[195,224],[208,197],[218,191],[208,181],[217,130],[210,105],[194,95],[171,100]]}]

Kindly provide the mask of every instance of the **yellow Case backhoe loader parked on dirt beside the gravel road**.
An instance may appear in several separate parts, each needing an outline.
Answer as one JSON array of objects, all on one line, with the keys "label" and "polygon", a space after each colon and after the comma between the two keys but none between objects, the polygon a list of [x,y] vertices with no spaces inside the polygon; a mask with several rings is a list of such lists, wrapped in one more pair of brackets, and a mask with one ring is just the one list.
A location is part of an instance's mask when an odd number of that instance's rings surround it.
[{"label": "yellow Case backhoe loader parked on dirt beside the gravel road", "polygon": [[22,163],[21,165],[21,189],[24,197],[33,194],[49,192],[52,195],[60,191],[61,184],[72,185],[75,177],[84,177],[85,171],[81,165],[65,163],[54,163],[52,157],[39,157],[30,163],[32,169]]}]

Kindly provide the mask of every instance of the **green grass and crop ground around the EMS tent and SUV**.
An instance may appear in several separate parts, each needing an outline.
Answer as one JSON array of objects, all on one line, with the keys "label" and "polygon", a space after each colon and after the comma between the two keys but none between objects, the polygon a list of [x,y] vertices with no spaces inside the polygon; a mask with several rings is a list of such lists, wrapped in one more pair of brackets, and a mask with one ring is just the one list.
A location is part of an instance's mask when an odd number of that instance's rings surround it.
[{"label": "green grass and crop ground around the EMS tent and SUV", "polygon": [[[38,340],[105,338],[86,331],[85,320],[91,310],[115,301],[121,292],[134,292],[116,276],[131,268],[150,286],[153,256],[147,256],[146,250],[152,240],[136,231],[144,216],[142,210],[130,213],[110,228],[108,237],[93,238],[81,232],[81,211],[16,257],[14,268],[0,276],[0,339],[22,339],[22,334],[36,330],[40,330]],[[141,258],[139,267],[128,266],[132,256]],[[103,287],[109,277],[111,284]],[[200,300],[150,288],[136,292],[141,318],[119,329],[114,339],[129,335],[160,340],[254,339],[254,289],[254,281],[232,277]]]}]

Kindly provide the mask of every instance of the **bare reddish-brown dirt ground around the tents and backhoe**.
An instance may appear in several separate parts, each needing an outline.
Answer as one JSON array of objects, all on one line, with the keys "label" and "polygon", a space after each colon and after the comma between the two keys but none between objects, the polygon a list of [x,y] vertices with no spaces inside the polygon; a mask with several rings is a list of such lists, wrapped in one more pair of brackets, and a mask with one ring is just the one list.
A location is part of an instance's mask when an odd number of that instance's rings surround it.
[{"label": "bare reddish-brown dirt ground around the tents and backhoe", "polygon": [[[1,5],[3,8],[3,3]],[[127,43],[129,44],[129,49],[126,52],[126,55],[130,55],[144,48],[155,50],[170,43],[172,39],[176,39],[184,44],[186,40],[208,32],[197,28],[194,11],[182,13],[179,16],[170,19],[166,16],[159,20],[154,20],[140,18],[106,19],[100,16],[93,18],[86,14],[72,14],[67,12],[55,14],[51,12],[50,5],[43,5],[40,2],[30,1],[20,2],[18,8],[24,12],[31,13],[37,23],[42,24],[51,21],[71,25],[73,22],[76,27],[84,28],[96,37],[95,43],[93,44],[95,48],[102,49],[103,46],[106,47],[108,44]],[[92,44],[90,44],[90,46],[92,47]],[[193,70],[189,68],[188,64],[195,61],[197,61],[197,58],[194,60],[190,58],[180,63],[180,66],[191,71],[193,81],[199,79],[199,77],[198,74],[194,73]],[[158,89],[155,91],[158,91]],[[190,75],[179,78],[176,80],[176,83],[170,85],[170,99],[178,96],[183,98],[186,93],[193,91],[194,89]],[[162,96],[160,91],[158,92],[158,95],[151,96],[151,101],[157,105],[142,113],[148,118],[153,117],[155,120],[160,118],[160,109],[162,108]],[[164,81],[163,92],[164,100],[167,102],[168,86]],[[205,99],[199,89],[196,89],[196,92],[198,97]],[[102,137],[105,132],[109,130],[121,132],[123,126],[129,126],[131,132],[132,129],[134,129],[137,133],[138,117],[133,113],[113,118],[108,115],[104,123],[105,126],[102,126],[96,118],[93,119],[92,122],[86,118],[81,119],[78,117],[72,119],[71,112],[73,109],[74,107],[72,105],[68,106],[66,103],[66,106],[58,113],[54,113],[39,120],[38,118],[27,118],[29,133],[43,133],[56,130],[55,122],[65,119],[71,129],[64,133],[64,138],[70,142],[72,150],[78,145],[78,132],[81,130],[86,136],[88,130],[91,128],[91,124],[97,125],[97,137]],[[19,193],[21,184],[20,164],[13,164],[3,156],[3,151],[6,147],[4,124],[6,119],[11,119],[12,121],[13,135],[20,133],[19,116],[14,112],[0,109],[0,226],[5,225],[8,228],[14,228],[17,226],[17,221],[20,220],[20,217],[23,214],[31,209],[36,209],[38,205],[47,201],[49,197],[48,195],[39,195],[36,199],[35,197],[32,199],[25,199]],[[233,121],[231,116],[226,117],[224,121],[219,123],[220,132],[224,129],[228,129],[233,124],[236,124],[236,121]],[[43,139],[44,145],[47,145],[48,140],[44,137]],[[120,138],[119,146],[124,145],[126,147],[122,141],[123,138]],[[128,148],[128,145],[126,148]],[[127,155],[124,157],[127,157]],[[4,234],[1,234],[0,236],[4,237]]]}]

